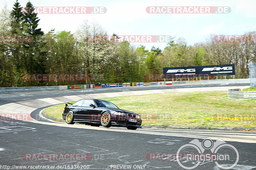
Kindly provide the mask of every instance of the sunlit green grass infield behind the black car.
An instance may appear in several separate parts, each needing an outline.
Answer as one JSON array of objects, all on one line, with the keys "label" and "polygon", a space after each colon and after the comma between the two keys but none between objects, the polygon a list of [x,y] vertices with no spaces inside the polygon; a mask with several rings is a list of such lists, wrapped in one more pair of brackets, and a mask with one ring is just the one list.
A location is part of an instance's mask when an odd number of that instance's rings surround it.
[{"label": "sunlit green grass infield behind the black car", "polygon": [[[227,98],[227,91],[184,92],[109,97],[103,100],[142,116],[142,124],[156,126],[256,127],[256,121],[219,121],[214,114],[255,114],[256,101]],[[62,119],[65,104],[44,110]]]}]

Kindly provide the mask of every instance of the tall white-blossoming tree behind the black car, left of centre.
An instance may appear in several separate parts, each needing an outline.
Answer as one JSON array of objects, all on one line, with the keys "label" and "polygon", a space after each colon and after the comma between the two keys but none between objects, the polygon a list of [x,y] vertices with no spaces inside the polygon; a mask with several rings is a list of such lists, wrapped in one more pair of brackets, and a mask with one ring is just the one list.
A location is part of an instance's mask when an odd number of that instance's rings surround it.
[{"label": "tall white-blossoming tree behind the black car, left of centre", "polygon": [[[83,72],[92,76],[90,83],[118,81],[117,43],[107,39],[107,33],[102,26],[95,21],[85,20],[75,32],[75,38],[78,54],[82,58]],[[110,73],[113,75],[110,76]],[[104,78],[103,74],[107,77]]]}]

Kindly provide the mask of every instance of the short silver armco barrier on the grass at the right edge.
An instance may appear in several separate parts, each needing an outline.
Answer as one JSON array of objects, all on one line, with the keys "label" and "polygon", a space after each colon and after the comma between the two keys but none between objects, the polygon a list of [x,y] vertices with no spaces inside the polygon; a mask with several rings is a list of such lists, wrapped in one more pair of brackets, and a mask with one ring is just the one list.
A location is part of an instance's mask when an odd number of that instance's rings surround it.
[{"label": "short silver armco barrier on the grass at the right edge", "polygon": [[256,91],[240,91],[240,89],[228,90],[228,98],[256,99]]}]

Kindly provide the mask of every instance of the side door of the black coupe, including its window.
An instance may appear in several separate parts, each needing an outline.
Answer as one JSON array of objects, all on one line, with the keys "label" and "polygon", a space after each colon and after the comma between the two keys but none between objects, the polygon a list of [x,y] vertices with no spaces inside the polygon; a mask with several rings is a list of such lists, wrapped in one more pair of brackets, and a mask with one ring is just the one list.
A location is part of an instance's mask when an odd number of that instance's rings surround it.
[{"label": "side door of the black coupe, including its window", "polygon": [[92,99],[85,99],[80,108],[80,119],[83,120],[94,120],[96,108],[90,106],[90,104],[95,105]]}]

